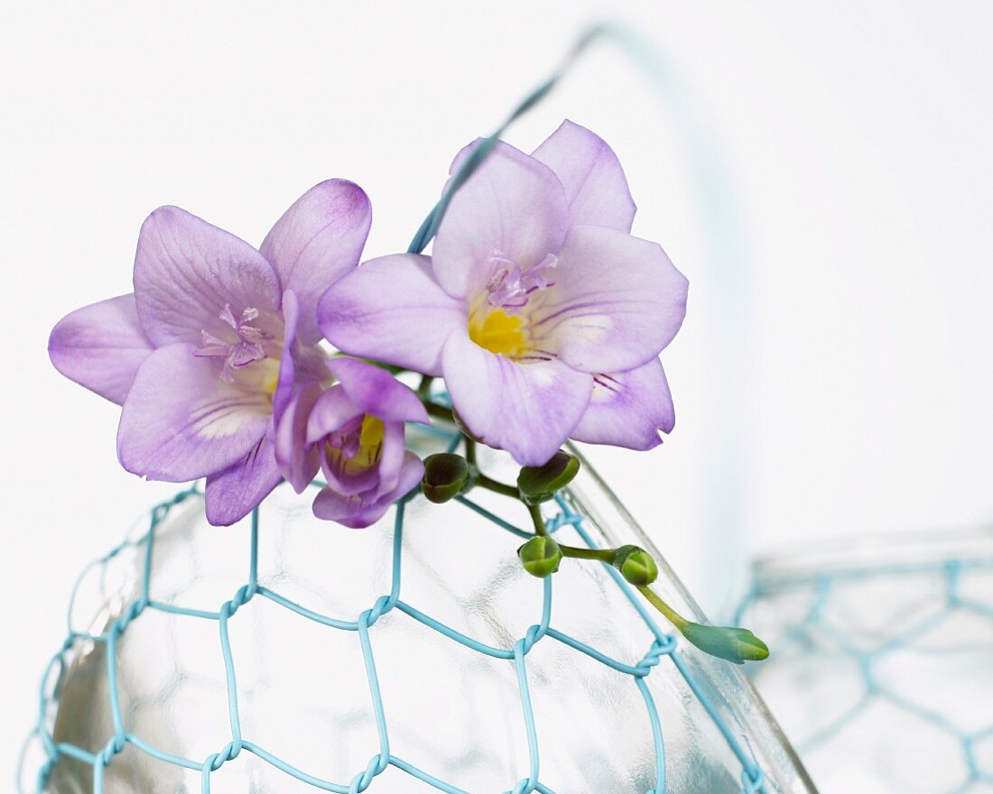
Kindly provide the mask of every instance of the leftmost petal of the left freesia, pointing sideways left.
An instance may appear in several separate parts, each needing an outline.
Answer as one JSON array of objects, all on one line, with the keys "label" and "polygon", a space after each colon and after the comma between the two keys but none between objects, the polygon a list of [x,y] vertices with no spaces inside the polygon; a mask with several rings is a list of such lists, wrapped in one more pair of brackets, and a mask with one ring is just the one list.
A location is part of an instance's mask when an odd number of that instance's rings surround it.
[{"label": "leftmost petal of the left freesia, pointing sideways left", "polygon": [[152,349],[130,294],[77,309],[49,336],[49,357],[56,369],[118,405]]}]

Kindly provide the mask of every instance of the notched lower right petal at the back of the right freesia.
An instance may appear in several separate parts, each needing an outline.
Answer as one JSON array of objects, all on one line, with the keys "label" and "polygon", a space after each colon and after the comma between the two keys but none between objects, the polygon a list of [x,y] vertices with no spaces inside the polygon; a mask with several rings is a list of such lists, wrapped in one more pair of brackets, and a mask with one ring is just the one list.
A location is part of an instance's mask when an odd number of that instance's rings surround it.
[{"label": "notched lower right petal at the back of the right freesia", "polygon": [[662,443],[658,431],[671,433],[676,416],[662,362],[627,372],[594,377],[593,397],[569,437],[589,444],[650,450]]}]

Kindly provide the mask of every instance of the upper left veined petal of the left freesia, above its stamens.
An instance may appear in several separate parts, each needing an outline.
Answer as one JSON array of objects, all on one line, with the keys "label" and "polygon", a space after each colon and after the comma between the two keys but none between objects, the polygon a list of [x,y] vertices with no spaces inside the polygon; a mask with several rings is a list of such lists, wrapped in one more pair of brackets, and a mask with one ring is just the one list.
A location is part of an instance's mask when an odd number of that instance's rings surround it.
[{"label": "upper left veined petal of the left freesia, above its stamens", "polygon": [[203,331],[228,338],[233,331],[219,317],[225,306],[235,318],[257,309],[254,325],[266,331],[279,323],[279,279],[262,254],[177,206],[159,207],[142,224],[134,295],[156,346],[199,346]]}]

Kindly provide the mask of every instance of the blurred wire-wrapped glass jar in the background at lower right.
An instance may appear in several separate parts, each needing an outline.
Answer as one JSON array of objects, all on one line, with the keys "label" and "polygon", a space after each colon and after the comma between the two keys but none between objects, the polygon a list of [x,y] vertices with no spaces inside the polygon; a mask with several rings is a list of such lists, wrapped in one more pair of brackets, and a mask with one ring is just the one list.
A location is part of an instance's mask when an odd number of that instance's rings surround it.
[{"label": "blurred wire-wrapped glass jar in the background at lower right", "polygon": [[993,791],[993,530],[761,561],[750,668],[824,794]]}]

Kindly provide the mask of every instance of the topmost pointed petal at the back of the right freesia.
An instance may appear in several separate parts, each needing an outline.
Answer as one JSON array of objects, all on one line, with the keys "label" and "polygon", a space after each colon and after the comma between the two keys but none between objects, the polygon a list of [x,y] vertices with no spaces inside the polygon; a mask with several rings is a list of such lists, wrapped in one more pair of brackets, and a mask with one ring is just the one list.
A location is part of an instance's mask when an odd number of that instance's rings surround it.
[{"label": "topmost pointed petal at the back of the right freesia", "polygon": [[635,201],[614,150],[586,127],[566,120],[532,155],[562,182],[573,225],[631,231]]}]

